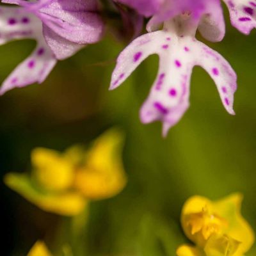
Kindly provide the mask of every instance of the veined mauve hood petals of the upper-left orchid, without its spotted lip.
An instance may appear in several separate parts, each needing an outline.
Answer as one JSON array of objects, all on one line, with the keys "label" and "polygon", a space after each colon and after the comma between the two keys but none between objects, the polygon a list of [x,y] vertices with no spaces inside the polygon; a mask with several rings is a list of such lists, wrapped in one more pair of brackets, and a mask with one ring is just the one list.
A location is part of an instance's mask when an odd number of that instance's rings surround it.
[{"label": "veined mauve hood petals of the upper-left orchid, without its spotted lip", "polygon": [[86,44],[98,42],[104,31],[95,0],[3,0],[18,4],[42,21],[45,40],[58,60],[72,56]]}]

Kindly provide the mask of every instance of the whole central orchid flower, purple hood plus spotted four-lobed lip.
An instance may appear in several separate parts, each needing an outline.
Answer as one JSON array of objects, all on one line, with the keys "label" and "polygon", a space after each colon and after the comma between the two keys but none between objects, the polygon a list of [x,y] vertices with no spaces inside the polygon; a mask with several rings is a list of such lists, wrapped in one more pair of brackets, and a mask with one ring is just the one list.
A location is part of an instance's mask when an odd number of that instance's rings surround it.
[{"label": "whole central orchid flower, purple hood plus spotted four-lobed lip", "polygon": [[220,1],[173,1],[177,4],[172,8],[169,3],[165,1],[164,8],[159,9],[147,26],[151,31],[164,21],[164,29],[142,35],[124,49],[118,57],[110,87],[113,90],[122,84],[150,54],[158,54],[159,71],[140,110],[140,119],[146,124],[161,120],[164,136],[189,107],[189,83],[195,65],[212,77],[221,102],[231,115],[234,115],[236,92],[236,74],[228,62],[195,38],[197,29],[213,42],[223,38],[225,23]]}]

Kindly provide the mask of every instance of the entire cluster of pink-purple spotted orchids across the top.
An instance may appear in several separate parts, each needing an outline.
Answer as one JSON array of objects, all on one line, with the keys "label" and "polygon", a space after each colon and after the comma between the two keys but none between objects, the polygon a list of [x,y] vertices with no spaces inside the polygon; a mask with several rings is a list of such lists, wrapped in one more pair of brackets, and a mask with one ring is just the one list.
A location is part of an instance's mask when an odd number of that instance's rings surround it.
[{"label": "entire cluster of pink-purple spotted orchids across the top", "polygon": [[[244,34],[255,28],[255,0],[223,0],[234,27]],[[129,44],[117,60],[110,89],[122,84],[150,54],[159,55],[159,71],[141,110],[143,123],[163,122],[163,134],[177,124],[189,107],[190,77],[194,66],[211,76],[228,113],[234,115],[236,73],[218,52],[196,40],[196,32],[211,42],[225,35],[220,0],[2,0],[0,44],[33,38],[36,49],[3,82],[0,93],[31,83],[42,83],[58,60],[72,56],[104,35],[108,8],[120,13],[124,26],[140,33],[142,18],[148,33]],[[131,10],[127,9],[131,8]],[[133,12],[133,14],[131,14]],[[135,14],[134,14],[135,13]],[[129,30],[129,28],[127,28]]]}]

